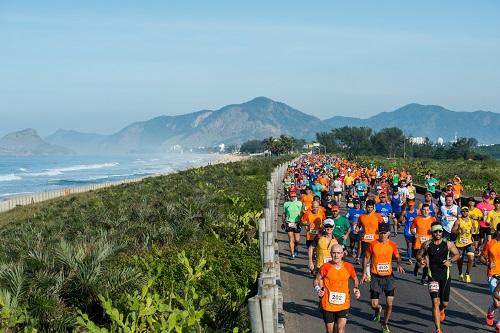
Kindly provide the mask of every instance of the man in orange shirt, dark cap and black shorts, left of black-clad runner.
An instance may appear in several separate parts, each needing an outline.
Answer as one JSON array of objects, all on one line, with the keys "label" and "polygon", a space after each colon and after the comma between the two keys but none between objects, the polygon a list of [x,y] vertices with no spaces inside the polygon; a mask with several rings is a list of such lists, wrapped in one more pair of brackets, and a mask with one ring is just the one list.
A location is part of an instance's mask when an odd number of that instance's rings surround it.
[{"label": "man in orange shirt, dark cap and black shorts, left of black-clad runner", "polygon": [[[382,223],[378,226],[378,239],[371,242],[365,256],[363,257],[363,277],[361,282],[370,281],[370,299],[371,307],[375,311],[373,321],[380,322],[382,306],[380,305],[380,294],[385,293],[386,308],[384,312],[384,321],[382,323],[382,332],[389,333],[389,319],[391,318],[392,305],[394,302],[394,275],[392,272],[392,257],[397,261],[397,270],[404,273],[401,266],[401,257],[395,242],[389,240],[391,235],[391,226]],[[371,264],[368,264],[371,262]],[[368,268],[370,267],[371,279],[368,278]]]}]

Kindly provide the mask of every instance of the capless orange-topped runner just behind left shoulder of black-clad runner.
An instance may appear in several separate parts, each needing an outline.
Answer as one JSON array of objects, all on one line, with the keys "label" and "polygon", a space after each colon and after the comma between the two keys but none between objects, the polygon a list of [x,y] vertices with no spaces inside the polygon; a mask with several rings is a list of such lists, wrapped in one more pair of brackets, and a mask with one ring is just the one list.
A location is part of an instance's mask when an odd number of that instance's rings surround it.
[{"label": "capless orange-topped runner just behind left shoulder of black-clad runner", "polygon": [[[418,215],[411,225],[411,232],[415,236],[415,241],[413,242],[413,255],[416,255],[420,251],[422,244],[431,239],[431,225],[436,222],[436,218],[433,216],[429,216],[430,210],[429,205],[423,204],[422,210],[420,211],[422,215]],[[413,275],[418,276],[418,270],[420,268],[420,264],[415,262],[415,267],[413,269]],[[427,275],[428,268],[424,267],[422,272],[422,278],[420,282],[423,285],[427,284]]]}]

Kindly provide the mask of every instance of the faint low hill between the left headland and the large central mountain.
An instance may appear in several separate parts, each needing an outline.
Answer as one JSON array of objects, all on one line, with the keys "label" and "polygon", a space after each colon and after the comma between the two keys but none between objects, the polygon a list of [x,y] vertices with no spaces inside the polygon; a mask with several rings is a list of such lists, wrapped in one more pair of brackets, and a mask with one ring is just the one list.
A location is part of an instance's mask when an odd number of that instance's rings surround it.
[{"label": "faint low hill between the left headland and the large central mountain", "polygon": [[106,135],[59,129],[45,138],[50,144],[70,148],[79,154],[94,154]]}]

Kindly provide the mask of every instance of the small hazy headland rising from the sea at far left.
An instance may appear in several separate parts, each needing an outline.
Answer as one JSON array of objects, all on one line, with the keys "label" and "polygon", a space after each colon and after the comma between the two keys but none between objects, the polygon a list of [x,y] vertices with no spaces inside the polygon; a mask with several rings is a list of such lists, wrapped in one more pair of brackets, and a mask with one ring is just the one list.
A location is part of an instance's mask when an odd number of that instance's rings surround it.
[{"label": "small hazy headland rising from the sea at far left", "polygon": [[70,154],[68,148],[51,145],[31,128],[12,132],[0,139],[0,155],[61,155]]}]

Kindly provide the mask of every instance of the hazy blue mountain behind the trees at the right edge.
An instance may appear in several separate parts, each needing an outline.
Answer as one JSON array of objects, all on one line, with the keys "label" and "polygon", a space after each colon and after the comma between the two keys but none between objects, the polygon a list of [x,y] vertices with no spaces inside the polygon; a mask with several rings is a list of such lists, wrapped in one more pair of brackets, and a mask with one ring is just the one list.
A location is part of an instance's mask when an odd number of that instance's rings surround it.
[{"label": "hazy blue mountain behind the trees at the right edge", "polygon": [[500,142],[500,114],[490,111],[459,112],[438,105],[408,104],[392,112],[382,112],[367,119],[333,117],[323,123],[328,128],[365,126],[375,131],[398,127],[406,135],[445,141],[457,137],[474,137],[480,143]]}]

